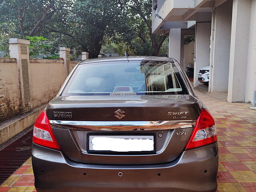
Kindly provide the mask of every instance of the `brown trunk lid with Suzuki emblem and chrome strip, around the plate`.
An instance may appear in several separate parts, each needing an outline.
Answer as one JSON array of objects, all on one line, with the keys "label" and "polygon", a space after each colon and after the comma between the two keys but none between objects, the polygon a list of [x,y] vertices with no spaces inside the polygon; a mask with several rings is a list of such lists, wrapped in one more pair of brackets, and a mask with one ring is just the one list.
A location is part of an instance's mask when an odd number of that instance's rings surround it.
[{"label": "brown trunk lid with Suzuki emblem and chrome strip, around the plate", "polygon": [[[190,95],[60,96],[49,103],[46,114],[62,152],[71,160],[155,164],[173,161],[182,153],[201,107]],[[90,153],[89,133],[152,134],[155,153]]]}]

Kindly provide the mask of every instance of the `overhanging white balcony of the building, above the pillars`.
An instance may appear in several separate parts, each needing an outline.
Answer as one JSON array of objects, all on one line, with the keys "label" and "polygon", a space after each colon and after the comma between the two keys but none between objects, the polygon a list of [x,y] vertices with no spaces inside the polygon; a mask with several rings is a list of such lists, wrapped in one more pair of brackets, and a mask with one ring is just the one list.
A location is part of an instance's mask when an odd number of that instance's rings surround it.
[{"label": "overhanging white balcony of the building, above the pillars", "polygon": [[211,21],[211,5],[216,7],[225,1],[153,0],[153,6],[157,5],[152,11],[152,33],[165,33],[170,28],[190,28],[195,23],[187,21]]}]

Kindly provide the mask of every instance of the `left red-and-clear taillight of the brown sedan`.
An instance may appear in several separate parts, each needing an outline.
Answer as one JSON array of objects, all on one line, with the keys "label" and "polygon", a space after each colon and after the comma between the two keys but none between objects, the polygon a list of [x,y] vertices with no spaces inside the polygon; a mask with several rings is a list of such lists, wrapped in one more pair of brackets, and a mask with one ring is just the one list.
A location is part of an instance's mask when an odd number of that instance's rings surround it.
[{"label": "left red-and-clear taillight of the brown sedan", "polygon": [[44,147],[60,150],[60,146],[52,132],[45,110],[36,118],[33,131],[33,142]]}]

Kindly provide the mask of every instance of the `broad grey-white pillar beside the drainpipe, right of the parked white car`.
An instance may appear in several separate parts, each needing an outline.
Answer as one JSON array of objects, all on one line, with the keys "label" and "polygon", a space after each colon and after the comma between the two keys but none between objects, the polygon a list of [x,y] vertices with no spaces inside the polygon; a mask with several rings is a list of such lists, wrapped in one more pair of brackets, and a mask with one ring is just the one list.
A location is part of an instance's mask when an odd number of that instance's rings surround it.
[{"label": "broad grey-white pillar beside the drainpipe, right of the parked white car", "polygon": [[214,16],[214,39],[211,45],[213,64],[209,86],[211,92],[228,92],[232,0],[218,6]]}]

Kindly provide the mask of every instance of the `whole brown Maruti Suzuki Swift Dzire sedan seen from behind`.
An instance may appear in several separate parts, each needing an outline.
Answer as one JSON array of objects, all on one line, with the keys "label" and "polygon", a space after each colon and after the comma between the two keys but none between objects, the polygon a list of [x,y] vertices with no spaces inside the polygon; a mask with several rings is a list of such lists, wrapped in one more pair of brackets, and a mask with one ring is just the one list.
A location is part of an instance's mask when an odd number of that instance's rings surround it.
[{"label": "whole brown Maruti Suzuki Swift Dzire sedan seen from behind", "polygon": [[37,192],[216,192],[214,119],[172,58],[84,60],[34,124]]}]

